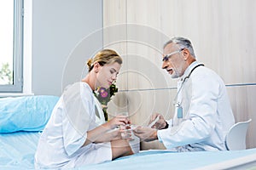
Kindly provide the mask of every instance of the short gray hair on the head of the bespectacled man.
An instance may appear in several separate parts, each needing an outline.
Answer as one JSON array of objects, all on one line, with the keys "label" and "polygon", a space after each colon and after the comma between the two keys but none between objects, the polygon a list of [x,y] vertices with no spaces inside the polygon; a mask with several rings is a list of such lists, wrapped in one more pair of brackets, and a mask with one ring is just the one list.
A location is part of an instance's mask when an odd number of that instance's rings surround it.
[{"label": "short gray hair on the head of the bespectacled man", "polygon": [[184,37],[173,37],[171,40],[169,40],[168,42],[165,43],[164,48],[166,48],[166,46],[172,42],[176,43],[180,49],[188,48],[189,53],[195,57],[194,49],[193,49],[192,43],[189,41],[189,39],[184,38]]}]

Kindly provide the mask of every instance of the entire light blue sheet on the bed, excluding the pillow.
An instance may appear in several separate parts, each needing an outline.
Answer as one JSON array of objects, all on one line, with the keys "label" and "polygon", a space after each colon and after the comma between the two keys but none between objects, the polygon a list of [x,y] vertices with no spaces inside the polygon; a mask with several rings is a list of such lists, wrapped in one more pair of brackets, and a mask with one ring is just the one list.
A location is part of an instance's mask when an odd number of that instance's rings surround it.
[{"label": "entire light blue sheet on the bed, excluding the pillow", "polygon": [[[38,144],[39,135],[40,133],[38,132],[0,133],[0,169],[33,169],[33,156]],[[148,170],[160,167],[193,169],[253,155],[255,155],[256,159],[256,149],[184,153],[176,153],[167,150],[146,150],[133,156],[125,156],[115,161],[88,165],[79,167],[78,169]]]}]

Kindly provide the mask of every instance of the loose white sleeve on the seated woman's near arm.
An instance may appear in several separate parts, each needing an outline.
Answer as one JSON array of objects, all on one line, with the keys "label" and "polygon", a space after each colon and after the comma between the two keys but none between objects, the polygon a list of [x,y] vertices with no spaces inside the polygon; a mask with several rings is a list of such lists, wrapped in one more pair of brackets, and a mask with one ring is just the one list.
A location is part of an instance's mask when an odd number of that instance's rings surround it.
[{"label": "loose white sleeve on the seated woman's near arm", "polygon": [[73,84],[62,97],[66,113],[62,117],[63,143],[71,156],[84,144],[90,122],[94,121],[93,98],[90,90],[84,90],[80,83]]}]

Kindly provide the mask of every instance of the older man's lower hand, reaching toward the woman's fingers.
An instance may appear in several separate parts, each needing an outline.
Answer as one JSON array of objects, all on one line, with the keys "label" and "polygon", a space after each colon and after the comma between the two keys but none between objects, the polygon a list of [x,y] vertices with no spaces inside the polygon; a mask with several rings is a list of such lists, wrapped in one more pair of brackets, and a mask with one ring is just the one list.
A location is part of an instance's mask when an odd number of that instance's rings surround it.
[{"label": "older man's lower hand, reaching toward the woman's fingers", "polygon": [[136,127],[133,130],[133,133],[140,139],[148,142],[155,139],[158,139],[157,137],[157,129],[150,128],[150,127]]}]

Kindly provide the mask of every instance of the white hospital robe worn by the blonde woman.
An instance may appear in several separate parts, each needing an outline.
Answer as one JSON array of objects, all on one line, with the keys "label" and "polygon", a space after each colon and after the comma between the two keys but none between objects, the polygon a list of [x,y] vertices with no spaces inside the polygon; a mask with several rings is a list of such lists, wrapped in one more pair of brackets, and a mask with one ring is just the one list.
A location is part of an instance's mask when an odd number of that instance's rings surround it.
[{"label": "white hospital robe worn by the blonde woman", "polygon": [[61,95],[44,128],[35,154],[35,167],[70,168],[111,160],[109,142],[82,147],[87,131],[104,122],[102,107],[89,85],[74,83]]}]

